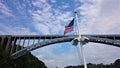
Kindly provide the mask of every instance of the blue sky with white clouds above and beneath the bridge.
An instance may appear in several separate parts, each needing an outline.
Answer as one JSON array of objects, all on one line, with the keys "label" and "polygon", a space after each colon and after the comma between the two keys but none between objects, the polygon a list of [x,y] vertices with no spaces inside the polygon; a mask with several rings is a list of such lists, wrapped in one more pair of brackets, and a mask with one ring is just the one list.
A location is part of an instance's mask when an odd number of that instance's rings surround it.
[{"label": "blue sky with white clouds above and beneath the bridge", "polygon": [[[74,11],[81,34],[120,34],[120,0],[0,0],[0,35],[63,35]],[[87,63],[109,64],[120,58],[120,48],[105,44],[88,43],[84,52]],[[39,48],[32,54],[48,68],[82,63],[71,42]]]}]

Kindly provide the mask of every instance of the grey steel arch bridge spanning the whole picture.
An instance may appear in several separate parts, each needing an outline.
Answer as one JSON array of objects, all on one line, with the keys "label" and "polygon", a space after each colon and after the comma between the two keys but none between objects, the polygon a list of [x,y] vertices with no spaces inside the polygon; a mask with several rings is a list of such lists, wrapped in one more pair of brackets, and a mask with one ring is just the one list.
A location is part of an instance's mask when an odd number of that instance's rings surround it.
[{"label": "grey steel arch bridge spanning the whole picture", "polygon": [[[120,35],[81,35],[87,40],[120,47]],[[29,51],[48,46],[50,44],[71,42],[78,35],[0,35],[0,45],[16,59]],[[32,40],[32,41],[31,41]]]}]

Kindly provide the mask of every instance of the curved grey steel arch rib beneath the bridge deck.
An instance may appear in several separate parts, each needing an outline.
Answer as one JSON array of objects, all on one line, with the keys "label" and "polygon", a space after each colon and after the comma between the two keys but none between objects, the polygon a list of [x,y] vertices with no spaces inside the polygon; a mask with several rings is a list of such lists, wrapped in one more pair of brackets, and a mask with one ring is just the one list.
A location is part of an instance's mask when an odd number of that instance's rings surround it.
[{"label": "curved grey steel arch rib beneath the bridge deck", "polygon": [[[36,43],[36,44],[33,44],[31,46],[28,46],[28,47],[26,47],[22,50],[19,50],[19,51],[13,53],[11,55],[11,57],[13,59],[16,59],[16,58],[26,54],[27,52],[33,51],[37,48],[41,48],[41,47],[48,46],[50,44],[55,44],[55,43],[70,42],[76,37],[77,36],[67,36],[67,37],[50,39],[50,40],[47,40],[47,41],[44,41],[44,42],[41,42],[41,43]],[[90,36],[86,36],[86,37],[89,38],[88,42],[102,43],[102,44],[108,44],[108,45],[113,45],[113,46],[120,47],[120,41],[115,41],[115,40],[112,40],[112,39],[90,37]]]}]

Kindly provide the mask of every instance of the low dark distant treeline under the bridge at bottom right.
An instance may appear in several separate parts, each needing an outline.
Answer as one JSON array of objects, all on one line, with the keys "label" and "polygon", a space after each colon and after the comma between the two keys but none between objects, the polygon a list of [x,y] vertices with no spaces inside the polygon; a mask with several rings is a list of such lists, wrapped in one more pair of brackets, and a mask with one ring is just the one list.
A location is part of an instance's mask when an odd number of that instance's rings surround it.
[{"label": "low dark distant treeline under the bridge at bottom right", "polygon": [[[114,63],[104,65],[104,64],[92,64],[89,63],[87,64],[88,68],[120,68],[120,59],[117,59]],[[78,66],[67,66],[65,68],[84,68],[83,65],[78,65]]]}]

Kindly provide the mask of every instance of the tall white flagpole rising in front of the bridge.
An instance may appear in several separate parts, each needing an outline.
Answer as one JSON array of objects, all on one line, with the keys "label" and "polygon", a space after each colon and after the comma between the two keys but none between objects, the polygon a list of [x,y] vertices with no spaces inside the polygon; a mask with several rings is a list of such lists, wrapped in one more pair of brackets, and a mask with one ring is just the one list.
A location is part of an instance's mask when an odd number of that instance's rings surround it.
[{"label": "tall white flagpole rising in front of the bridge", "polygon": [[[77,18],[77,12],[75,12],[75,20],[76,20],[76,23],[77,23],[77,29],[78,29],[78,36],[79,36],[79,40],[81,39],[81,34],[80,34],[80,26],[79,26],[79,23],[78,23],[78,18]],[[81,41],[79,41],[79,44],[78,44],[78,49],[81,50],[81,55],[82,55],[82,60],[83,60],[83,63],[84,63],[84,68],[87,68],[87,64],[86,64],[86,60],[85,60],[85,56],[84,56],[84,51],[83,51],[83,44],[81,43]],[[80,51],[79,50],[79,51]]]}]

